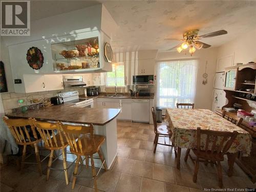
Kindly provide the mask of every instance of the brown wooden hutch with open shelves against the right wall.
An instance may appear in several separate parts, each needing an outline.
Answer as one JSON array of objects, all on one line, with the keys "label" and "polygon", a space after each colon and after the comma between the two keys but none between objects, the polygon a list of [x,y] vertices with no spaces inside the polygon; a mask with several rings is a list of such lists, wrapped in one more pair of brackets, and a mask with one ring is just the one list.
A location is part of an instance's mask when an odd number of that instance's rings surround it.
[{"label": "brown wooden hutch with open shelves against the right wall", "polygon": [[[251,112],[256,110],[256,63],[248,63],[240,66],[225,68],[225,86],[224,91],[228,100],[223,108],[230,108],[234,103],[242,105],[242,109]],[[218,115],[222,110],[216,110]],[[229,112],[229,116],[237,116],[237,112]],[[236,162],[251,176],[252,182],[256,182],[256,127],[250,126],[243,120],[241,127],[248,131],[252,136],[252,148],[250,157],[240,155]]]}]

